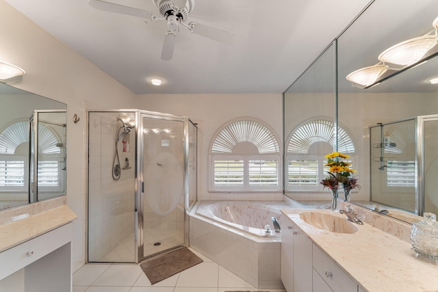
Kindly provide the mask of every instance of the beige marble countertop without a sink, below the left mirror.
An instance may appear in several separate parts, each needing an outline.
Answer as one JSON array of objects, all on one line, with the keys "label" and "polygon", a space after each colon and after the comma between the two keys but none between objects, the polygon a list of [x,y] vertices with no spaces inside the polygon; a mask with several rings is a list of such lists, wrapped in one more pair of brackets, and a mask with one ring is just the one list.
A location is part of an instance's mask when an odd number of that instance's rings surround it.
[{"label": "beige marble countertop without a sink, below the left mirror", "polygon": [[77,215],[66,205],[34,215],[17,215],[12,222],[0,225],[0,252],[72,222],[76,218]]}]

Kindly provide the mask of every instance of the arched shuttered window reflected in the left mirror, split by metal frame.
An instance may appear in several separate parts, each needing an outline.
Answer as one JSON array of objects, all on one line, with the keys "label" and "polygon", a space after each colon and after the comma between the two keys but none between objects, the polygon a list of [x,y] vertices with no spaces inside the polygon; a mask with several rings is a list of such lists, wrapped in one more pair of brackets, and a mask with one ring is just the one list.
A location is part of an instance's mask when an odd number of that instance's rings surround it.
[{"label": "arched shuttered window reflected in the left mirror, split by metal frame", "polygon": [[[38,187],[60,187],[58,140],[50,129],[39,124],[38,141]],[[15,122],[0,133],[0,191],[27,192],[28,168],[29,121]]]}]

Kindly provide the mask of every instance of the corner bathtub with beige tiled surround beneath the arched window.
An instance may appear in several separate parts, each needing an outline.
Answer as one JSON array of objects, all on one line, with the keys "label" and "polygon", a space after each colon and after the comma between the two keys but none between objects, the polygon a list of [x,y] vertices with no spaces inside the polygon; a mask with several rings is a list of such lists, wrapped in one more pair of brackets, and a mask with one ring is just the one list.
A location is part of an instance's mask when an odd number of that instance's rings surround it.
[{"label": "corner bathtub with beige tiled surround beneath the arched window", "polygon": [[281,233],[272,226],[280,209],[302,206],[292,200],[196,202],[189,213],[190,246],[257,289],[284,289]]}]

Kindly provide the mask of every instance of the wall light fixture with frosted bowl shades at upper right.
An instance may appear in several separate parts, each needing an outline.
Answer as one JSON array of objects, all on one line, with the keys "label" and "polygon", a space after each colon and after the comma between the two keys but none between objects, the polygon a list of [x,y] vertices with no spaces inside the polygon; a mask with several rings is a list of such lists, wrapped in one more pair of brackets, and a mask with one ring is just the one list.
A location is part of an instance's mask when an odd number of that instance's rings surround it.
[{"label": "wall light fixture with frosted bowl shades at upper right", "polygon": [[438,17],[424,36],[399,42],[378,55],[378,64],[351,72],[346,79],[358,88],[372,86],[438,55]]}]

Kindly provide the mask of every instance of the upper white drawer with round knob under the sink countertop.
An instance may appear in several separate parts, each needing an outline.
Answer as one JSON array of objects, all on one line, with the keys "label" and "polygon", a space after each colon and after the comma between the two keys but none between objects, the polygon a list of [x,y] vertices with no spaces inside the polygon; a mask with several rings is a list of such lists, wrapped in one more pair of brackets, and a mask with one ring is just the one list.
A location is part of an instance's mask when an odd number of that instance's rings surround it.
[{"label": "upper white drawer with round knob under the sink countertop", "polygon": [[313,268],[334,292],[356,292],[357,284],[313,244]]}]

